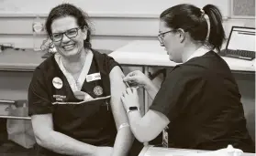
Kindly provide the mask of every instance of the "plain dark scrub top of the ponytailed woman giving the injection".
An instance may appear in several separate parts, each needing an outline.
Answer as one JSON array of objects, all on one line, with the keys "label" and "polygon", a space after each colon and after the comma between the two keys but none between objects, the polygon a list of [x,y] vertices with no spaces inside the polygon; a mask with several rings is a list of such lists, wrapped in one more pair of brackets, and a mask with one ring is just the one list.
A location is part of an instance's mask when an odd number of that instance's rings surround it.
[{"label": "plain dark scrub top of the ponytailed woman giving the injection", "polygon": [[[215,52],[194,57],[168,73],[150,106],[169,120],[169,147],[218,150],[228,144],[254,151],[239,88]],[[161,144],[161,135],[152,144]]]}]

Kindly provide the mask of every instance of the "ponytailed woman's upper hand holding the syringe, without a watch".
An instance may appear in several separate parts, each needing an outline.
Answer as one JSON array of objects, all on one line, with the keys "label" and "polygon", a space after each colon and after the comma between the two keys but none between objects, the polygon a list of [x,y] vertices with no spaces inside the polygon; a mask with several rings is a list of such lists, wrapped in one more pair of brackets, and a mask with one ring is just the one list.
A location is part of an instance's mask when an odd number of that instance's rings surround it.
[{"label": "ponytailed woman's upper hand holding the syringe, without a watch", "polygon": [[141,71],[135,70],[123,78],[124,81],[128,82],[129,84],[132,84],[132,86],[139,86],[146,88],[150,84],[150,78],[145,76]]}]

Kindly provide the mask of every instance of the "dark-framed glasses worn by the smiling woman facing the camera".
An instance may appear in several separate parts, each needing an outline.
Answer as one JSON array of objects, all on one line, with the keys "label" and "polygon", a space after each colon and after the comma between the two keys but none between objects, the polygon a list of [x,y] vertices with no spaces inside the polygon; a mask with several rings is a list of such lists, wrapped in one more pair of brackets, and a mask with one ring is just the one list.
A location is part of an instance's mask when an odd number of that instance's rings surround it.
[{"label": "dark-framed glasses worn by the smiling woman facing the camera", "polygon": [[72,29],[69,29],[63,33],[53,33],[51,34],[50,38],[52,39],[52,41],[54,42],[59,42],[62,40],[63,38],[63,35],[65,34],[65,36],[67,36],[68,38],[73,38],[75,36],[78,35],[78,30],[81,29],[81,27],[75,27],[75,28],[72,28]]}]

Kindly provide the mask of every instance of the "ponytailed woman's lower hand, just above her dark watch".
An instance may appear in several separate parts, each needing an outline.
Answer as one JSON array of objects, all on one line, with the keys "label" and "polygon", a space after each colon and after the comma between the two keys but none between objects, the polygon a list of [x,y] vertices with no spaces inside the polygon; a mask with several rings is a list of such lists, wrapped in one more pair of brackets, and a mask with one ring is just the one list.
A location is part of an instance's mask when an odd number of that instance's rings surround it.
[{"label": "ponytailed woman's lower hand, just above her dark watch", "polygon": [[139,108],[139,96],[137,88],[127,88],[127,90],[123,92],[121,100],[126,110],[128,110],[129,107],[134,106]]}]

